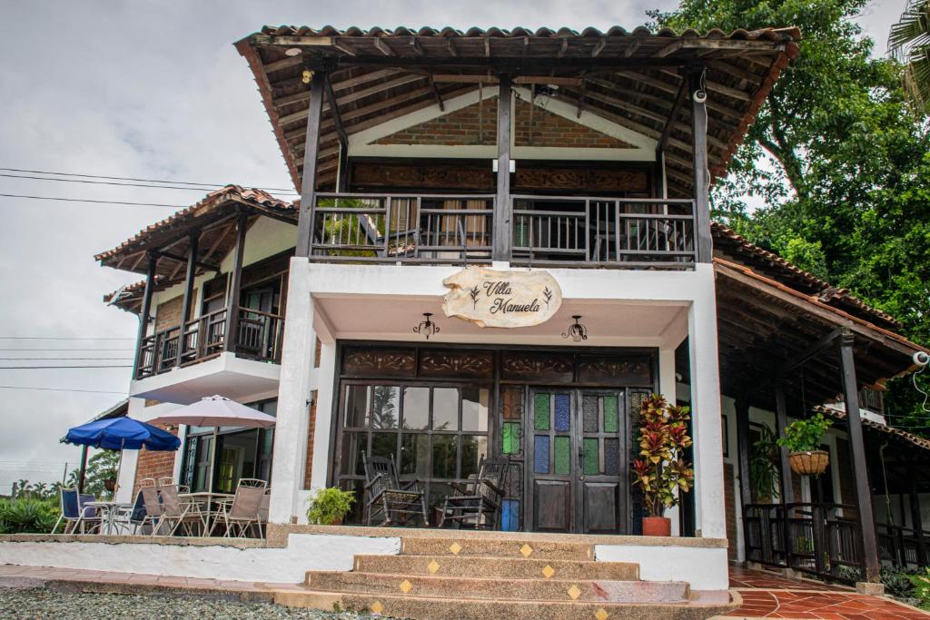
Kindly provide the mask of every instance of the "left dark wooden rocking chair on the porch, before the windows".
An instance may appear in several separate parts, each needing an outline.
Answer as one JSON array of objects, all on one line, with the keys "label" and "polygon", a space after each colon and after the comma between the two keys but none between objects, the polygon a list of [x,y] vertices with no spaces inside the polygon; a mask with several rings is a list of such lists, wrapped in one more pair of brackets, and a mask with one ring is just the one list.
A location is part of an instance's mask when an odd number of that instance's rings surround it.
[{"label": "left dark wooden rocking chair on the porch, before the windows", "polygon": [[426,516],[426,494],[419,490],[419,481],[401,482],[394,468],[394,457],[368,456],[362,453],[365,465],[365,523],[371,525],[380,517],[381,526],[392,522],[406,522],[411,516],[419,516],[423,526],[429,527]]}]

